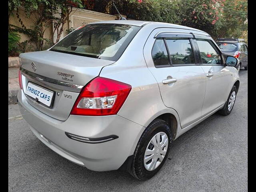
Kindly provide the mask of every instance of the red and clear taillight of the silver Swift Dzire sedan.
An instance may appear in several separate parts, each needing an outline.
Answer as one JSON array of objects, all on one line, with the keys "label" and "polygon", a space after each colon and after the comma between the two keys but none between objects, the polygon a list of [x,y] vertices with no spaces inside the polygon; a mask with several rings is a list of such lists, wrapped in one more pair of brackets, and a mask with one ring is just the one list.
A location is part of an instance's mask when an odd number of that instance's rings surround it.
[{"label": "red and clear taillight of the silver Swift Dzire sedan", "polygon": [[80,92],[72,115],[114,115],[120,110],[132,86],[116,80],[96,77]]}]

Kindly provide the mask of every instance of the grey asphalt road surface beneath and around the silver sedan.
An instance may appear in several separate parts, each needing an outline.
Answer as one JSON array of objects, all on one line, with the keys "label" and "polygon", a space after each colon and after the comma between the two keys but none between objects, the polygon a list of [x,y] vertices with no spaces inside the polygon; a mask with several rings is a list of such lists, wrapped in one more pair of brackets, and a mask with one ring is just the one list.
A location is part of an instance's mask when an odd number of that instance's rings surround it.
[{"label": "grey asphalt road surface beneath and around the silver sedan", "polygon": [[128,173],[93,172],[62,158],[9,105],[9,191],[247,191],[247,71],[229,116],[214,114],[172,143],[162,170],[148,181]]}]

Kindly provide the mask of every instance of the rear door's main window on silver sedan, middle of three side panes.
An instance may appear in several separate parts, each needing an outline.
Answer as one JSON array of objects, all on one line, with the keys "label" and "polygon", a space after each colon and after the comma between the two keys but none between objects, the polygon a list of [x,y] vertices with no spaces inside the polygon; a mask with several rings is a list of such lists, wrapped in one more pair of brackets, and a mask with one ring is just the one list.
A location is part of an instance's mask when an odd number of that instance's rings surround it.
[{"label": "rear door's main window on silver sedan, middle of three side panes", "polygon": [[194,53],[188,38],[166,38],[172,64],[195,64]]}]

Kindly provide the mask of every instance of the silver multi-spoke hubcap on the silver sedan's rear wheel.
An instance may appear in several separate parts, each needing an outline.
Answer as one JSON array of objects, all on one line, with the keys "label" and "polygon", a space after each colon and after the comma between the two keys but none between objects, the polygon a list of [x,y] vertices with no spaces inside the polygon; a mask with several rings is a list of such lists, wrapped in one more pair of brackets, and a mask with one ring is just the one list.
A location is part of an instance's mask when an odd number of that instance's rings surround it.
[{"label": "silver multi-spoke hubcap on the silver sedan's rear wheel", "polygon": [[168,149],[168,143],[169,138],[164,132],[159,132],[151,138],[144,154],[146,170],[155,170],[162,163]]}]

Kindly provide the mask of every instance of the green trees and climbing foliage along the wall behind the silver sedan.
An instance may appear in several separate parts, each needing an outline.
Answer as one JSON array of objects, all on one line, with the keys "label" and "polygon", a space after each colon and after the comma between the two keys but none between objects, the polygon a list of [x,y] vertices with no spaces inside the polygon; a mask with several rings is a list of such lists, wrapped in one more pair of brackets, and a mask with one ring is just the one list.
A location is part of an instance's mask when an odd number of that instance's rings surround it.
[{"label": "green trees and climbing foliage along the wall behind the silver sedan", "polygon": [[[181,24],[206,31],[214,39],[247,39],[247,0],[8,0],[9,16],[17,12],[22,25],[18,30],[30,36],[38,50],[42,50],[44,31],[52,23],[57,32],[57,39],[52,43],[59,41],[72,7],[117,14],[113,2],[127,18]],[[19,18],[21,6],[27,17],[36,15],[34,28],[27,29]]]}]

